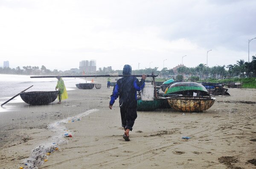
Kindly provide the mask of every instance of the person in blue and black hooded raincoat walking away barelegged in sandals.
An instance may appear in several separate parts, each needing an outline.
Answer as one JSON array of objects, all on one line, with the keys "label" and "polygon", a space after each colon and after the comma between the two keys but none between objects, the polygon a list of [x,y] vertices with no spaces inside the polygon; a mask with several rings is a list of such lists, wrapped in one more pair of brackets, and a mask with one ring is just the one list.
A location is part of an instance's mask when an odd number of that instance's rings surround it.
[{"label": "person in blue and black hooded raincoat walking away barelegged in sandals", "polygon": [[[122,73],[123,75],[131,75],[131,66],[124,65]],[[145,74],[142,75],[140,81],[134,76],[124,76],[117,80],[113,88],[109,108],[112,109],[115,100],[119,97],[122,127],[125,130],[123,138],[125,141],[130,141],[129,131],[132,131],[135,119],[137,118],[137,91],[143,89],[145,79]]]}]

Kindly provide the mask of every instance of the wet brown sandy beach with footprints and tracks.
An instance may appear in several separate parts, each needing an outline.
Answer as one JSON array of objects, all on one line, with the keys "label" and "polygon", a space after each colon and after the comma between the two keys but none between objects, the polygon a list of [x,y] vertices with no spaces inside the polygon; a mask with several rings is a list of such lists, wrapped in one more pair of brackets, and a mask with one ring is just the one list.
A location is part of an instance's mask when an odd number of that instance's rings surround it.
[{"label": "wet brown sandy beach with footprints and tracks", "polygon": [[62,104],[6,104],[12,109],[0,112],[0,169],[28,168],[22,162],[32,150],[55,136],[58,150],[42,158],[47,161],[40,169],[256,168],[255,161],[248,162],[256,158],[255,89],[229,89],[231,96],[215,96],[203,113],[138,111],[127,142],[118,101],[108,108],[113,87],[107,89],[104,78],[94,80],[101,89],[70,90]]}]

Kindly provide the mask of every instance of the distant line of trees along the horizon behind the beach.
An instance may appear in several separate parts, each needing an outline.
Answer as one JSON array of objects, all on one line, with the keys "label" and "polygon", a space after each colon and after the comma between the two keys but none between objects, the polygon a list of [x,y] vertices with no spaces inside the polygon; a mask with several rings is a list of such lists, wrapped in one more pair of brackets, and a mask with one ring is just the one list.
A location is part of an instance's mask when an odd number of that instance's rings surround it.
[{"label": "distant line of trees along the horizon behind the beach", "polygon": [[[211,68],[207,67],[205,64],[199,64],[195,68],[187,68],[185,66],[180,66],[177,68],[175,72],[173,69],[163,68],[162,70],[158,70],[158,67],[155,68],[145,68],[140,70],[133,70],[133,74],[154,74],[168,77],[168,76],[175,76],[175,75],[183,75],[187,77],[200,77],[201,79],[205,78],[214,78],[214,79],[223,79],[225,77],[256,77],[256,56],[252,56],[252,61],[250,63],[244,62],[244,60],[240,59],[234,65],[223,65],[223,66],[213,66]],[[68,72],[67,71],[58,71],[58,70],[49,70],[44,65],[39,68],[38,66],[23,66],[20,68],[1,68],[0,73],[2,74],[28,74],[28,75],[81,75],[82,72]],[[99,68],[96,73],[86,73],[85,74],[122,74],[122,70],[109,70],[107,68]]]}]

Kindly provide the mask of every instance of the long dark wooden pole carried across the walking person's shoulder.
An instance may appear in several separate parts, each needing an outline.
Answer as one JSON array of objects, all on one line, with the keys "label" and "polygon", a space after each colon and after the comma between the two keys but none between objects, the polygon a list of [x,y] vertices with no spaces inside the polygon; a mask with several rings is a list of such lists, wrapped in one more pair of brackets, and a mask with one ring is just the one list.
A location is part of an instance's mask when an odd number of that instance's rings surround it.
[{"label": "long dark wooden pole carried across the walking person's shoulder", "polygon": [[[67,75],[67,76],[30,76],[30,78],[57,78],[57,77],[127,77],[127,76],[134,76],[134,77],[141,77],[142,75]],[[158,75],[146,75],[146,77],[157,77]]]}]

